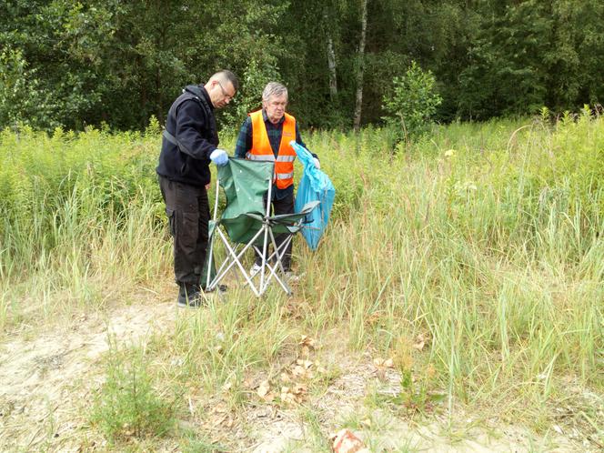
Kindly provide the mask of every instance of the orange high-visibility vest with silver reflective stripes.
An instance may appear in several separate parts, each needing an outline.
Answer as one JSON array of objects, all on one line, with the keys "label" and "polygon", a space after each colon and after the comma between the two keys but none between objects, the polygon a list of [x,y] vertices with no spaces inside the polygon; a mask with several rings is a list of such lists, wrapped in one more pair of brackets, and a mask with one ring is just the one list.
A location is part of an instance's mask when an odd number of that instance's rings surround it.
[{"label": "orange high-visibility vest with silver reflective stripes", "polygon": [[247,152],[246,158],[249,160],[275,162],[277,188],[283,189],[291,186],[294,184],[296,151],[289,146],[289,142],[296,140],[296,118],[285,114],[286,119],[283,122],[281,143],[279,144],[279,152],[276,158],[268,140],[267,126],[262,116],[262,110],[252,112],[249,116],[252,118],[252,149]]}]

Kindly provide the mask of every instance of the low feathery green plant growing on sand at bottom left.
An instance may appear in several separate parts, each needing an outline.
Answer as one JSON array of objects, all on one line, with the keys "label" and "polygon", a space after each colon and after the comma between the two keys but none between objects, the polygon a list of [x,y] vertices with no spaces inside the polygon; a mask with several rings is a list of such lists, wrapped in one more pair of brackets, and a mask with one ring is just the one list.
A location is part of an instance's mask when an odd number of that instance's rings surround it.
[{"label": "low feathery green plant growing on sand at bottom left", "polygon": [[173,402],[157,395],[142,351],[113,352],[90,420],[110,442],[162,437],[174,426]]}]

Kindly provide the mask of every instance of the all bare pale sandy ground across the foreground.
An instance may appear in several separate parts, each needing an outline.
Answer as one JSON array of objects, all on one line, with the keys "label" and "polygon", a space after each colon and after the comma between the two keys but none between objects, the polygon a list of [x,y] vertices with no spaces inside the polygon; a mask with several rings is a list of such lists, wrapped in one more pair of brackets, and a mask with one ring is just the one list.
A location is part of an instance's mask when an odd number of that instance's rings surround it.
[{"label": "all bare pale sandy ground across the foreground", "polygon": [[[99,433],[87,425],[86,407],[103,381],[100,361],[110,338],[136,344],[141,338],[174,326],[174,302],[149,300],[105,314],[78,315],[64,327],[39,332],[12,332],[0,344],[0,451],[106,451]],[[187,311],[187,310],[184,310]],[[370,363],[370,361],[368,361]],[[367,385],[375,381],[375,369],[358,360],[343,368],[320,398],[311,399],[320,428],[314,431],[301,421],[300,408],[251,404],[245,413],[220,409],[214,438],[228,441],[233,451],[267,453],[313,451],[328,445],[328,432],[355,414]],[[396,383],[398,377],[393,376]],[[188,404],[203,404],[192,401]],[[370,414],[371,425],[355,430],[373,451],[597,451],[593,442],[583,443],[565,433],[539,437],[527,428],[475,425],[471,414],[456,416],[454,432],[444,435],[446,418],[435,416],[425,423],[393,418],[383,410]],[[196,418],[187,421],[196,428]],[[208,427],[202,427],[205,430]],[[207,431],[206,431],[207,432]],[[317,432],[319,438],[317,440]],[[155,448],[154,448],[155,449]],[[176,440],[163,440],[156,450],[179,451]]]}]

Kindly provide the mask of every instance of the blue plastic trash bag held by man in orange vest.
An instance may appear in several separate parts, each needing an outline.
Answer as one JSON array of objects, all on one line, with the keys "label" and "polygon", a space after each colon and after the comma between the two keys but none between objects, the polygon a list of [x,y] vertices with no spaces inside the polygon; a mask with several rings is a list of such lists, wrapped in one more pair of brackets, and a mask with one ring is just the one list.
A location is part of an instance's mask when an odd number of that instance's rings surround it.
[{"label": "blue plastic trash bag held by man in orange vest", "polygon": [[313,156],[304,146],[298,145],[294,140],[289,145],[296,151],[297,157],[304,166],[304,175],[297,187],[295,208],[296,212],[309,201],[321,203],[307,215],[302,227],[302,236],[307,240],[311,250],[317,250],[318,241],[323,236],[331,208],[334,206],[336,188],[331,183],[329,176],[317,169]]}]

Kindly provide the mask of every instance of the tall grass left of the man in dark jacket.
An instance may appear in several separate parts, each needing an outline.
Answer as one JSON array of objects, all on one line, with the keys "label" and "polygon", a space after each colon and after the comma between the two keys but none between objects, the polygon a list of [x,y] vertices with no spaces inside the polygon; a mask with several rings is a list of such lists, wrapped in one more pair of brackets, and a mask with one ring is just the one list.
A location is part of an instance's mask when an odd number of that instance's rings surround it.
[{"label": "tall grass left of the man in dark jacket", "polygon": [[0,327],[102,307],[169,267],[156,136],[1,136]]}]

